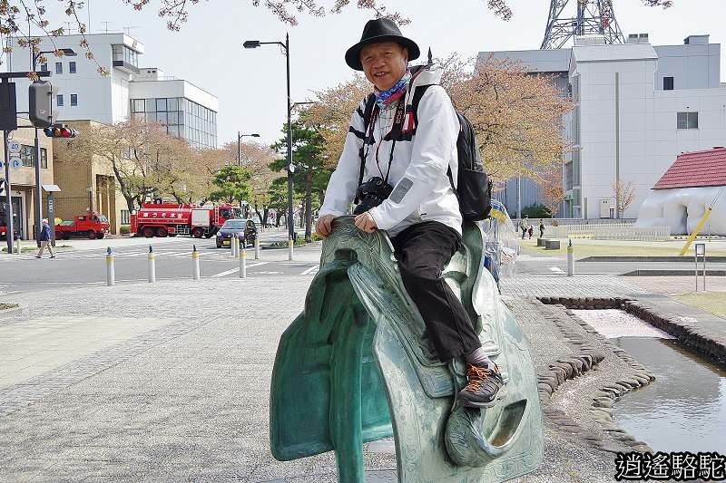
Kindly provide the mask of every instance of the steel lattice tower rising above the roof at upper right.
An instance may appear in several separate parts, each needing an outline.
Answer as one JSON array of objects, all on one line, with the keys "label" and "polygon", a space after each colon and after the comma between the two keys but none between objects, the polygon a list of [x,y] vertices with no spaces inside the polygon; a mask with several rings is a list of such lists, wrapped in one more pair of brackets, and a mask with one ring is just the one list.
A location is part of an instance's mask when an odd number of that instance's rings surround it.
[{"label": "steel lattice tower rising above the roof at upper right", "polygon": [[[577,16],[572,17],[568,6],[576,4]],[[550,16],[541,49],[560,49],[575,35],[596,34],[605,43],[625,43],[625,37],[615,20],[613,0],[551,0]]]}]

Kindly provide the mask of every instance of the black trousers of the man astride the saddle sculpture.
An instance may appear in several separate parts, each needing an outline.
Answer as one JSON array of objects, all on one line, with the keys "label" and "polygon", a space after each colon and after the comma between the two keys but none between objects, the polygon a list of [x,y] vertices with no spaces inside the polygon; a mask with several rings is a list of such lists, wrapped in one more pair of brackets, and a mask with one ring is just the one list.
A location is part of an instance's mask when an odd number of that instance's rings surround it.
[{"label": "black trousers of the man astride the saddle sculpture", "polygon": [[469,314],[441,276],[462,244],[461,236],[437,221],[407,227],[394,237],[401,278],[424,318],[441,362],[481,347]]}]

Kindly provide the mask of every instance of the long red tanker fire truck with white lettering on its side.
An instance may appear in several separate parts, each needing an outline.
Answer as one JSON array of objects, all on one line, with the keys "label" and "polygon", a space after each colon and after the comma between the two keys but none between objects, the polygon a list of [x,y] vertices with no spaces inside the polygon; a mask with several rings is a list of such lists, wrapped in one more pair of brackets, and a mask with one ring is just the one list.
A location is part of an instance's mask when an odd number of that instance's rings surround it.
[{"label": "long red tanker fire truck with white lettering on its side", "polygon": [[176,203],[144,203],[132,213],[131,232],[136,236],[211,238],[224,222],[241,216],[240,208],[229,204],[214,207],[197,207]]}]

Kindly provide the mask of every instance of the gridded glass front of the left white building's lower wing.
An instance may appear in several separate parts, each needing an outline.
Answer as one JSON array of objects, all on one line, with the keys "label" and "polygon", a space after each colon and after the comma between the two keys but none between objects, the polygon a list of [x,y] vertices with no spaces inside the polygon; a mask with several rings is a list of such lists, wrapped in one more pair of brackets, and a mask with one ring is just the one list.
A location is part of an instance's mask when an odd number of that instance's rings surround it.
[{"label": "gridded glass front of the left white building's lower wing", "polygon": [[132,116],[159,122],[170,136],[196,148],[217,147],[217,113],[183,97],[132,99]]}]

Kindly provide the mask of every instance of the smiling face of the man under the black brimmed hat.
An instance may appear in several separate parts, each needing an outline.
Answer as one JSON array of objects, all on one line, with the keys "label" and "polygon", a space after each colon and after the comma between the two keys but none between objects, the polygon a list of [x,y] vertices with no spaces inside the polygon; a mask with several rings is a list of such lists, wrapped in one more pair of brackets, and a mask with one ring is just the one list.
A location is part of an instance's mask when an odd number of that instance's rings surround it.
[{"label": "smiling face of the man under the black brimmed hat", "polygon": [[406,73],[408,49],[395,42],[366,45],[360,51],[360,63],[363,64],[368,81],[378,91],[386,91]]}]

